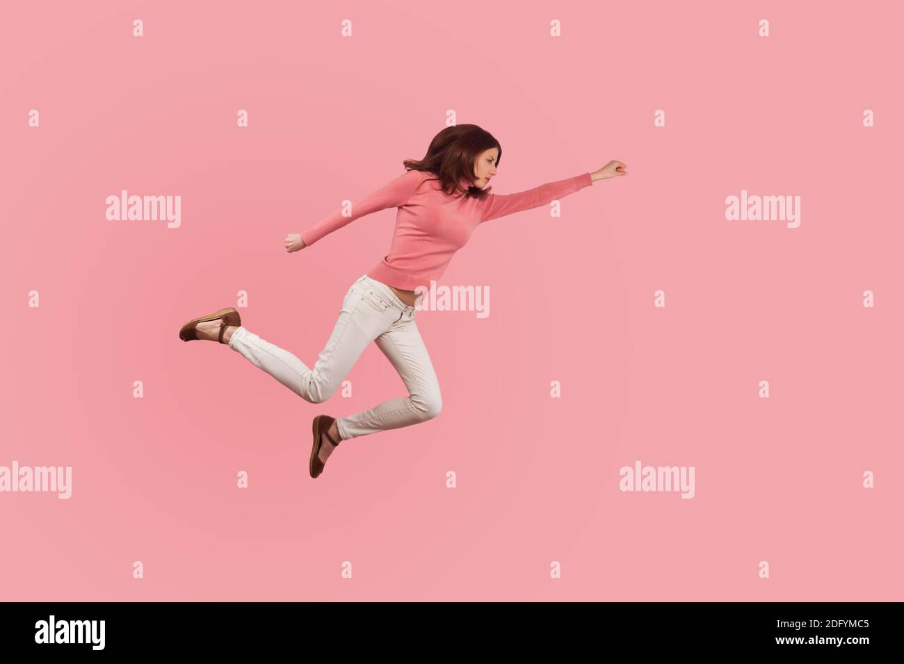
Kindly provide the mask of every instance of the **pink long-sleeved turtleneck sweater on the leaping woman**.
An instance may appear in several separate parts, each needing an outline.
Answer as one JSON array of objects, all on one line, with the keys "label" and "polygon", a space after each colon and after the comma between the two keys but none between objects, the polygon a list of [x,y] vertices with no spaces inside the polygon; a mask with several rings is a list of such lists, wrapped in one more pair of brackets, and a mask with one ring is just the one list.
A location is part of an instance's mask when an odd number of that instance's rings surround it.
[{"label": "pink long-sleeved turtleneck sweater on the leaping woman", "polygon": [[[344,217],[342,210],[334,212],[306,229],[301,238],[310,246],[366,214],[399,208],[390,253],[366,274],[384,284],[413,291],[419,285],[429,287],[431,279],[438,279],[446,271],[452,256],[466,245],[478,224],[545,205],[592,183],[590,173],[582,173],[526,192],[490,193],[478,201],[443,192],[433,173],[406,171],[377,191],[353,201],[350,216]],[[462,185],[466,187],[466,181]]]}]

